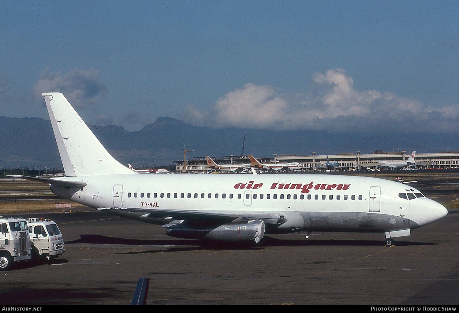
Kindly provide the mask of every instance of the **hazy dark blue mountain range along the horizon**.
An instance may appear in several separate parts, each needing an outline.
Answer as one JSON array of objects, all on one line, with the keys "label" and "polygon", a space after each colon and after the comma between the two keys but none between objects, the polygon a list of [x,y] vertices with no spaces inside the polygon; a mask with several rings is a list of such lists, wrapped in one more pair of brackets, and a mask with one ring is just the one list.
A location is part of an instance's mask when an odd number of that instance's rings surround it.
[{"label": "hazy dark blue mountain range along the horizon", "polygon": [[[241,155],[256,157],[282,154],[317,155],[337,153],[371,153],[374,150],[418,153],[459,150],[457,134],[408,133],[403,127],[391,134],[349,131],[331,133],[315,130],[213,129],[160,117],[141,130],[127,131],[121,126],[89,125],[102,145],[122,164],[166,165],[188,158]],[[8,162],[10,164],[8,164]],[[49,120],[0,116],[0,166],[62,167]]]}]

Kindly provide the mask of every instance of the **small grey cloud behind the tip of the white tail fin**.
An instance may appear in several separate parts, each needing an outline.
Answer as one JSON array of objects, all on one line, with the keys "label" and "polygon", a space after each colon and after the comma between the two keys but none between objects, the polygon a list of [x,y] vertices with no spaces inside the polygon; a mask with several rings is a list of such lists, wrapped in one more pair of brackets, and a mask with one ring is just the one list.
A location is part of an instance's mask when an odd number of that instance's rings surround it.
[{"label": "small grey cloud behind the tip of the white tail fin", "polygon": [[62,92],[74,107],[84,108],[105,96],[106,86],[99,82],[99,70],[80,70],[75,67],[66,74],[52,72],[47,67],[34,85],[34,97],[41,98],[42,92]]}]

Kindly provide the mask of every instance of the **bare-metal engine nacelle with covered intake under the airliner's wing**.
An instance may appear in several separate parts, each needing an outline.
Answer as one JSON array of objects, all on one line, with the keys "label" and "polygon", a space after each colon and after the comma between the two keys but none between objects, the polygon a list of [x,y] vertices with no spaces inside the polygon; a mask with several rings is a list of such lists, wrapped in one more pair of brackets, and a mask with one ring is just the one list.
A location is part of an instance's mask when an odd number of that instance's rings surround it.
[{"label": "bare-metal engine nacelle with covered intake under the airliner's wing", "polygon": [[164,225],[171,237],[188,239],[211,239],[231,242],[259,242],[264,236],[264,221],[232,221],[215,228],[196,227],[178,223]]}]

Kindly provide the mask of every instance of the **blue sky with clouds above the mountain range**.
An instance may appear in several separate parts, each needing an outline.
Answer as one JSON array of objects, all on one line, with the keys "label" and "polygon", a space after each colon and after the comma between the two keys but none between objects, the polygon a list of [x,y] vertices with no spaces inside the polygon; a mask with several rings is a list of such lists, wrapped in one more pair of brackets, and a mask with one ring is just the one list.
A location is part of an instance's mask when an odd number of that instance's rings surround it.
[{"label": "blue sky with clouds above the mountain range", "polygon": [[459,130],[458,1],[2,1],[0,115]]}]

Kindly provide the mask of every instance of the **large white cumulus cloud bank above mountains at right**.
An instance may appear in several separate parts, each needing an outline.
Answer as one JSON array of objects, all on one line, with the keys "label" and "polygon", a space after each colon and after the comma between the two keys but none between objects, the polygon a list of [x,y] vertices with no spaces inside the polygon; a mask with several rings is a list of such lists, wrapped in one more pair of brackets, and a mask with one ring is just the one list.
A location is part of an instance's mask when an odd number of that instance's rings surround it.
[{"label": "large white cumulus cloud bank above mountains at right", "polygon": [[249,83],[228,92],[211,108],[192,106],[183,119],[214,128],[328,131],[453,131],[459,128],[459,105],[431,108],[391,92],[358,91],[342,69],[315,73],[308,91],[280,94],[272,86]]}]

